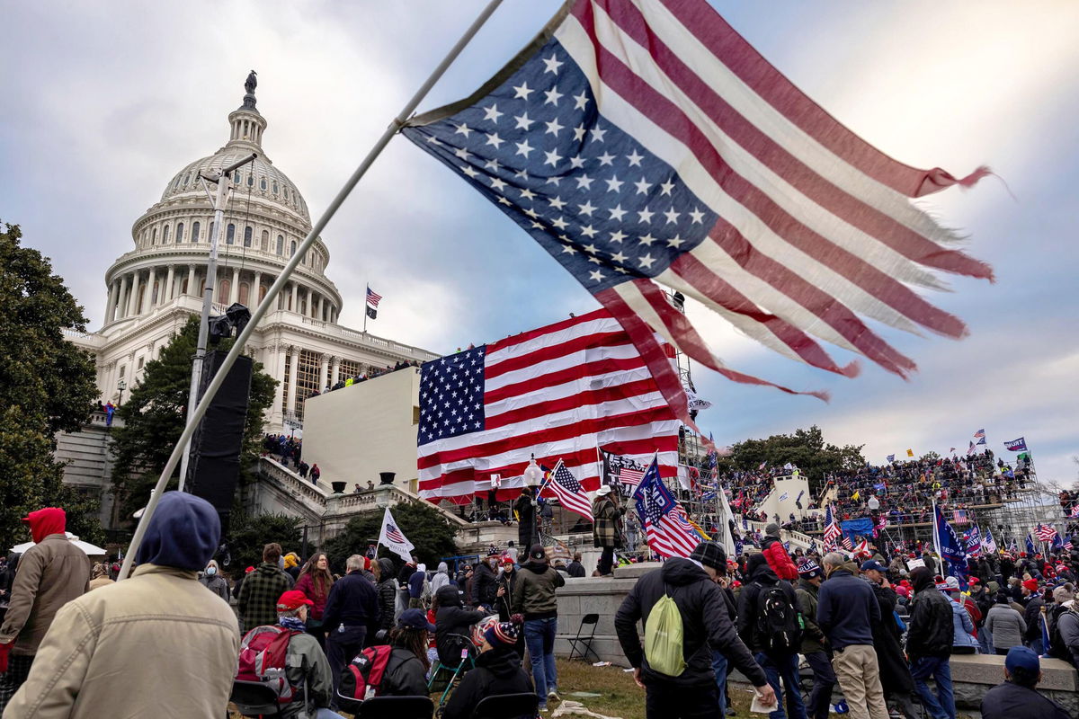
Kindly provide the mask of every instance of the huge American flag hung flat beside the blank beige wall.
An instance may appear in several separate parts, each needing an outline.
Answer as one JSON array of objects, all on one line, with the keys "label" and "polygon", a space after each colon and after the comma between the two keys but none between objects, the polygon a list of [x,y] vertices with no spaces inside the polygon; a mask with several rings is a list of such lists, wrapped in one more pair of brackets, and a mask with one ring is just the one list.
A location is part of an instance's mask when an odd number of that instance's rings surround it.
[{"label": "huge American flag hung flat beside the blank beige wall", "polygon": [[600,445],[637,461],[658,451],[673,476],[679,426],[629,335],[598,309],[423,365],[420,496],[467,502],[497,473],[498,499],[513,498],[533,453],[595,492]]}]

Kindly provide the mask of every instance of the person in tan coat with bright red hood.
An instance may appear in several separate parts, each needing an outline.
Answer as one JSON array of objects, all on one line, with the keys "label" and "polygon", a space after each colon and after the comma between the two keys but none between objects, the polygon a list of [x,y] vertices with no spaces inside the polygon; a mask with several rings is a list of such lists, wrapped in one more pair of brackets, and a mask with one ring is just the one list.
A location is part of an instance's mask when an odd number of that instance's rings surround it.
[{"label": "person in tan coat with bright red hood", "polygon": [[0,675],[0,711],[26,681],[38,646],[56,612],[86,592],[90,558],[64,533],[67,514],[46,507],[23,518],[36,542],[19,558],[11,603],[0,626],[0,652],[10,653]]}]

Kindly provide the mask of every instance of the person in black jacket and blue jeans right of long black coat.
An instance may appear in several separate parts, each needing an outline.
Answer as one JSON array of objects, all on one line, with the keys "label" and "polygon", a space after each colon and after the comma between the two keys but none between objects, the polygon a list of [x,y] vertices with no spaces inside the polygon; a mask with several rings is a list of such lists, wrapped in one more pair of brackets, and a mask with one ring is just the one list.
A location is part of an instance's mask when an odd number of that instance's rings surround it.
[{"label": "person in black jacket and blue jeans right of long black coat", "polygon": [[[952,691],[952,605],[933,584],[928,567],[915,567],[911,572],[914,598],[911,600],[910,631],[906,655],[911,660],[911,677],[918,699],[933,719],[955,719],[955,696]],[[926,679],[937,682],[937,695],[929,691]]]}]

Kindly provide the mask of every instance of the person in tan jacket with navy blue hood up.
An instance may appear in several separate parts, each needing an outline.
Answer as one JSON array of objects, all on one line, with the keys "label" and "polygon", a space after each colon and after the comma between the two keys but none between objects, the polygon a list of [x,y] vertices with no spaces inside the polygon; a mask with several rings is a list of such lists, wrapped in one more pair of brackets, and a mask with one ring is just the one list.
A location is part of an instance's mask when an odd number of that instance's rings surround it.
[{"label": "person in tan jacket with navy blue hood up", "polygon": [[209,502],[163,495],[138,568],[57,612],[3,719],[226,716],[240,627],[199,583],[220,534]]}]

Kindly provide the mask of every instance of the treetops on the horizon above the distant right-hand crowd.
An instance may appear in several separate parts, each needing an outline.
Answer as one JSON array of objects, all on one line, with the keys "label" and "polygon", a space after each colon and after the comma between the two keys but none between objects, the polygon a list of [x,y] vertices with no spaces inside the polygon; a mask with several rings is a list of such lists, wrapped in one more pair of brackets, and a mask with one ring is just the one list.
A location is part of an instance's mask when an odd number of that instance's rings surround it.
[{"label": "treetops on the horizon above the distant right-hand crowd", "polygon": [[[863,446],[828,444],[820,428],[814,425],[809,429],[795,430],[793,434],[773,434],[766,440],[738,442],[722,459],[726,468],[743,471],[755,470],[761,462],[768,462],[768,467],[791,462],[809,478],[810,485],[816,489],[829,472],[864,466]],[[720,469],[722,471],[724,467]]]}]

